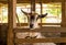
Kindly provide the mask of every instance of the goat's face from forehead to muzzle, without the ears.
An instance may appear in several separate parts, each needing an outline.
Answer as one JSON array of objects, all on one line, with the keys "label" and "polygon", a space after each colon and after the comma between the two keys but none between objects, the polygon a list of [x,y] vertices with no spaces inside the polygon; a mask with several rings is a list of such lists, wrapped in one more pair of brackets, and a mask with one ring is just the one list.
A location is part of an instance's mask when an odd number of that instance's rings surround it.
[{"label": "goat's face from forehead to muzzle, without the ears", "polygon": [[38,27],[38,24],[37,24],[37,14],[32,12],[32,14],[30,13],[29,15],[29,25],[30,25],[30,29],[35,29],[35,27]]}]

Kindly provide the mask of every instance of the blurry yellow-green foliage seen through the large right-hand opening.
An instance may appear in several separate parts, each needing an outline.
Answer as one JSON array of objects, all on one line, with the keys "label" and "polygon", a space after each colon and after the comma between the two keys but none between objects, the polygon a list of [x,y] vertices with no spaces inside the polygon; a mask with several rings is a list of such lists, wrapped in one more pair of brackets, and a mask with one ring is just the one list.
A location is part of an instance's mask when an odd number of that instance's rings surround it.
[{"label": "blurry yellow-green foliage seen through the large right-hand opening", "polygon": [[62,7],[61,5],[48,4],[47,8],[48,8],[48,10],[46,12],[48,12],[50,14],[59,15],[62,13]]}]

